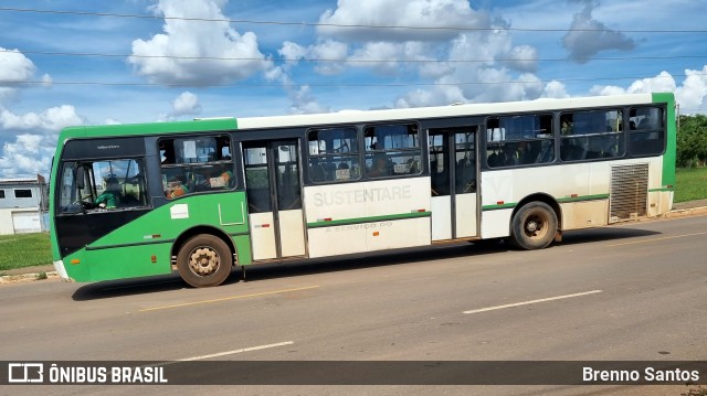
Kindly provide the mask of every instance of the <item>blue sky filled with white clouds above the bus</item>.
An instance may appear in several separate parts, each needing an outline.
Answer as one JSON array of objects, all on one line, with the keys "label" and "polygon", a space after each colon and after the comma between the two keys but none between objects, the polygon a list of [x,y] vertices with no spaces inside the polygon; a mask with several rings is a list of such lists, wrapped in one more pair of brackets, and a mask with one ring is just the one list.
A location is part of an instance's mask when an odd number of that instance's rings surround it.
[{"label": "blue sky filled with white clouds above the bus", "polygon": [[68,126],[673,92],[707,114],[695,0],[0,0],[0,179]]}]

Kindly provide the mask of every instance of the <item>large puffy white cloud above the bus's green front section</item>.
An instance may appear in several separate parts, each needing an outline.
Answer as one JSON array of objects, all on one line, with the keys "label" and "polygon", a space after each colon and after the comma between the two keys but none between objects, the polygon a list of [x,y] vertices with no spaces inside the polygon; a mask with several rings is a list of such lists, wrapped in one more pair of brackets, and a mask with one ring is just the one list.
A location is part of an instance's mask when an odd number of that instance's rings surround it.
[{"label": "large puffy white cloud above the bus's green front section", "polygon": [[253,32],[239,34],[230,28],[221,11],[226,2],[159,0],[154,11],[166,17],[163,33],[135,40],[128,62],[155,83],[193,86],[233,83],[272,67]]}]

